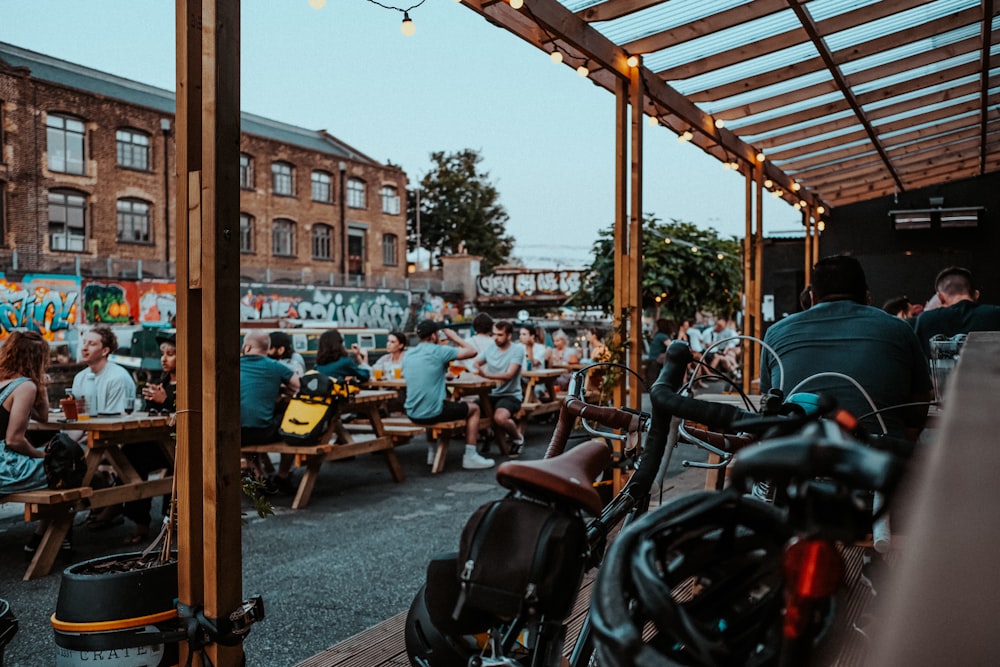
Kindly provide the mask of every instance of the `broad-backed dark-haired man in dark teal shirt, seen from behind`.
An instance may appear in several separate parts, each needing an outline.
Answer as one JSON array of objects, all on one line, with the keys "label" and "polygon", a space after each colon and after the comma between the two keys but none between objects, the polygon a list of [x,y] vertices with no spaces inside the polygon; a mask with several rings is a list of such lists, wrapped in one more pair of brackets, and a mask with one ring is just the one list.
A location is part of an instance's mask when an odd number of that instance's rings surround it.
[{"label": "broad-backed dark-haired man in dark teal shirt, seen from behind", "polygon": [[[818,373],[840,373],[857,381],[878,409],[915,403],[881,413],[890,434],[915,440],[927,418],[931,378],[913,329],[870,305],[868,283],[857,259],[823,258],[812,275],[809,309],[775,323],[764,336],[761,394],[778,386],[788,392]],[[809,379],[801,391],[830,396],[855,417],[873,409],[862,392],[841,377]],[[862,424],[873,433],[881,432],[874,416]]]}]

